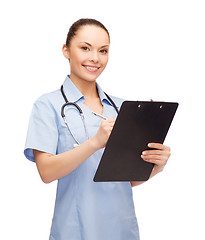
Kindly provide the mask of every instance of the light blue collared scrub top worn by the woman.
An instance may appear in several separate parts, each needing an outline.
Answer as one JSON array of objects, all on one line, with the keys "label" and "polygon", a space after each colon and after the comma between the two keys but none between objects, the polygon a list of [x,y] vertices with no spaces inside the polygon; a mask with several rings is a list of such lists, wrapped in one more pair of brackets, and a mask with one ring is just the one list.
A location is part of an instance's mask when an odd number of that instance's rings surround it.
[{"label": "light blue collared scrub top worn by the woman", "polygon": [[[89,137],[93,137],[102,119],[92,114],[84,104],[84,96],[66,77],[64,92],[68,101],[77,103],[83,110]],[[116,118],[117,113],[97,84],[103,104],[103,115]],[[122,99],[111,97],[119,108]],[[35,161],[33,149],[60,154],[73,149],[74,139],[61,117],[65,103],[60,89],[37,99],[31,113],[24,154]],[[83,122],[74,107],[66,107],[65,115],[74,136],[86,141]],[[94,182],[104,149],[91,155],[77,169],[58,179],[54,216],[49,240],[138,240],[130,182]]]}]

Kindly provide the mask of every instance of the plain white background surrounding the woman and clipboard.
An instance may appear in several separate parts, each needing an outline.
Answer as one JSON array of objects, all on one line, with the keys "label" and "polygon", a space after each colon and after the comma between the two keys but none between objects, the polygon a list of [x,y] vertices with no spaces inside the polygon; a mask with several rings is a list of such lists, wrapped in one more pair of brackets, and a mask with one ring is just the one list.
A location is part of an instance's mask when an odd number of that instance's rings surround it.
[{"label": "plain white background surrounding the woman and clipboard", "polygon": [[41,182],[23,148],[33,102],[69,73],[61,47],[81,17],[110,31],[110,61],[98,80],[107,93],[180,104],[165,142],[172,149],[166,169],[133,189],[141,240],[205,239],[204,13],[200,0],[0,3],[4,240],[48,239],[56,182]]}]

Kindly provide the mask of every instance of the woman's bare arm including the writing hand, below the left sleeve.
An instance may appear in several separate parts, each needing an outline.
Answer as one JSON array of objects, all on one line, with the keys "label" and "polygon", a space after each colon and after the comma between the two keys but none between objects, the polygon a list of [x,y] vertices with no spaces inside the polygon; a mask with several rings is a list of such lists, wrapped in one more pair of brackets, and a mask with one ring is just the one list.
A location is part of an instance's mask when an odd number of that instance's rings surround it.
[{"label": "woman's bare arm including the writing hand, below the left sleeve", "polygon": [[68,175],[94,152],[105,147],[114,122],[115,119],[103,120],[94,137],[65,153],[51,155],[34,150],[34,158],[42,181],[50,183]]}]

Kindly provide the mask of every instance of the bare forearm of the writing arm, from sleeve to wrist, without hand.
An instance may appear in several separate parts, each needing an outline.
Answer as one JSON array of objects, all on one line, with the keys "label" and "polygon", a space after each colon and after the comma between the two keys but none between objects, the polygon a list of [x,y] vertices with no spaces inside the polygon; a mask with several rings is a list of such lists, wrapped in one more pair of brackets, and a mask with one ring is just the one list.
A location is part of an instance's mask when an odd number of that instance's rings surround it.
[{"label": "bare forearm of the writing arm, from sleeve to wrist, without hand", "polygon": [[97,150],[94,140],[89,139],[78,147],[58,155],[45,153],[38,156],[38,153],[34,153],[34,156],[42,181],[50,183],[74,171]]}]

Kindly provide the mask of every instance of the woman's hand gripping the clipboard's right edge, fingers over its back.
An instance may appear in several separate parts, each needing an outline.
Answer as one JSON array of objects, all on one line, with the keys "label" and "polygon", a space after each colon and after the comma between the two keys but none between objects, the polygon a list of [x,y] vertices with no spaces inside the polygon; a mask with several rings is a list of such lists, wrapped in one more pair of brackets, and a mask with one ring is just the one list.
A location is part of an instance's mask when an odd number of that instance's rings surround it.
[{"label": "woman's hand gripping the clipboard's right edge, fingers over its back", "polygon": [[170,147],[161,143],[149,143],[148,147],[155,149],[142,152],[141,157],[144,161],[155,164],[153,171],[157,174],[158,172],[161,172],[167,164],[171,155]]}]

